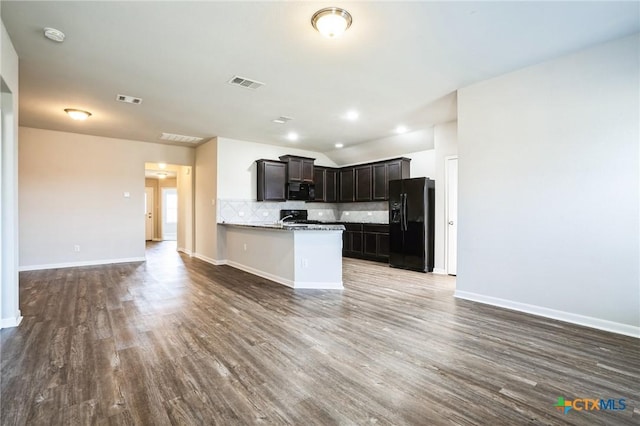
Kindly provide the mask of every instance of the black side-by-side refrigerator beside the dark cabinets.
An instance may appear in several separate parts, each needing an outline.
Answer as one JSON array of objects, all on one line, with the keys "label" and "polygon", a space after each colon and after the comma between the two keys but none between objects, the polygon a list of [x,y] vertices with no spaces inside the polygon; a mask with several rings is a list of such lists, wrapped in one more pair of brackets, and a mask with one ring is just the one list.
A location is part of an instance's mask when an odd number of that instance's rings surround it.
[{"label": "black side-by-side refrigerator beside the dark cabinets", "polygon": [[389,181],[389,266],[433,271],[435,181]]}]

